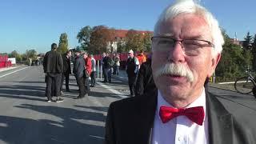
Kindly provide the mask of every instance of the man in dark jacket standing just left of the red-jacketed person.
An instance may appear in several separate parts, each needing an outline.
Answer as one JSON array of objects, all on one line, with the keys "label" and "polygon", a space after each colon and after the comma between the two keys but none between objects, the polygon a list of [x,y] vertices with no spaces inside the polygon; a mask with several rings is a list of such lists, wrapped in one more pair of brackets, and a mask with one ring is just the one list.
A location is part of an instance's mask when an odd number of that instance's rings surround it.
[{"label": "man in dark jacket standing just left of the red-jacketed person", "polygon": [[84,98],[85,97],[85,82],[84,82],[84,70],[85,70],[85,61],[83,59],[83,57],[80,55],[81,54],[81,50],[77,50],[75,52],[76,54],[76,58],[74,58],[74,68],[73,68],[73,73],[74,73],[74,77],[77,80],[78,83],[78,87],[79,87],[79,95],[78,95],[78,99],[79,98]]}]

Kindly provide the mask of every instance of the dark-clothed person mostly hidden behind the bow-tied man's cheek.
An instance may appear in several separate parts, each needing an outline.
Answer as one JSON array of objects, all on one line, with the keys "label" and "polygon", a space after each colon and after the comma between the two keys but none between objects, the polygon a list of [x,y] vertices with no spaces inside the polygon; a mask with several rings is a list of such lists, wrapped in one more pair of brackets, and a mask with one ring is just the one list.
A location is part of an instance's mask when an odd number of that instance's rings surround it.
[{"label": "dark-clothed person mostly hidden behind the bow-tied man's cheek", "polygon": [[138,70],[138,78],[135,86],[135,95],[141,96],[146,92],[155,90],[154,79],[151,69],[151,56],[146,59],[146,62],[143,62]]}]

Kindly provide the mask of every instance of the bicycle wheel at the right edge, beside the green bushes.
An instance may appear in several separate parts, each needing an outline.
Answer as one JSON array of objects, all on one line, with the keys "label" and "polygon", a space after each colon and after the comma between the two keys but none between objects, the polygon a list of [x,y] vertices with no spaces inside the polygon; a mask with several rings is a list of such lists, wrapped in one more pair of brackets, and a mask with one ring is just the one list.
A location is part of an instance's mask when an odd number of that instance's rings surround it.
[{"label": "bicycle wheel at the right edge, beside the green bushes", "polygon": [[234,89],[241,94],[250,94],[253,90],[254,82],[248,77],[238,78],[234,82]]}]

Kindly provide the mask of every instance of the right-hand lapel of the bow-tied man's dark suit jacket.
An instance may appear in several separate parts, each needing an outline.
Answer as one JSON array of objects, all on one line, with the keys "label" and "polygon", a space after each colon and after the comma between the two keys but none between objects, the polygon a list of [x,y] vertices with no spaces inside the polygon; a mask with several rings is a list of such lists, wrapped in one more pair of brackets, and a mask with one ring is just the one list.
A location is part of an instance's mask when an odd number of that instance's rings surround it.
[{"label": "right-hand lapel of the bow-tied man's dark suit jacket", "polygon": [[233,119],[221,102],[206,91],[206,110],[209,118],[210,144],[233,143]]}]

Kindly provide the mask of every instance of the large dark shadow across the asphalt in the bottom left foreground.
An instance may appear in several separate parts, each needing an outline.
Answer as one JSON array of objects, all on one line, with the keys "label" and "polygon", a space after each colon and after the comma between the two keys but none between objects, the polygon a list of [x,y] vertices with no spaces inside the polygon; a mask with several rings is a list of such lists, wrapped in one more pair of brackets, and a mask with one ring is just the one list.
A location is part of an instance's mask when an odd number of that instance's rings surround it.
[{"label": "large dark shadow across the asphalt in the bottom left foreground", "polygon": [[[46,114],[47,119],[34,120],[36,118],[0,116],[0,139],[4,142],[15,144],[103,143],[104,126],[102,125],[106,116],[102,113],[30,104],[15,107]],[[86,108],[95,109],[95,106]],[[98,107],[96,109],[105,110],[107,108]]]}]

